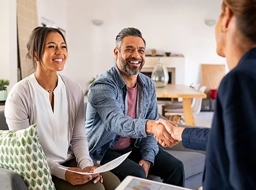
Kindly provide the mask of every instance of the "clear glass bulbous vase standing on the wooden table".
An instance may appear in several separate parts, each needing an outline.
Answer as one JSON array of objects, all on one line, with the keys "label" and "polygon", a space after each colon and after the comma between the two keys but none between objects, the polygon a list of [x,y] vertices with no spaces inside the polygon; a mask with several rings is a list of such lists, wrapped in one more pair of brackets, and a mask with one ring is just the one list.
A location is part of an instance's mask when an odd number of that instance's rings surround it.
[{"label": "clear glass bulbous vase standing on the wooden table", "polygon": [[153,80],[156,88],[163,88],[168,84],[169,73],[167,68],[163,65],[162,59],[159,59],[154,67],[151,74],[151,79]]}]

